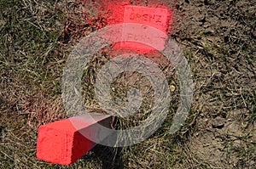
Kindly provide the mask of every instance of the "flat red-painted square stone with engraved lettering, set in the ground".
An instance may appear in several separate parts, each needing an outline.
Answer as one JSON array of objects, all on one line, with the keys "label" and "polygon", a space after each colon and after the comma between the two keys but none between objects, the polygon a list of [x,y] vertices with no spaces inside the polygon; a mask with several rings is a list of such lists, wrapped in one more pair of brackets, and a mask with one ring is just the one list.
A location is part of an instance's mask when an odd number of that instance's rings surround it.
[{"label": "flat red-painted square stone with engraved lettering, set in the ground", "polygon": [[[167,8],[148,8],[142,6],[125,5],[123,23],[133,23],[144,25],[141,29],[132,29],[131,26],[124,27],[122,32],[123,42],[116,43],[113,47],[115,50],[132,50],[138,54],[147,54],[156,50],[143,43],[157,43],[161,49],[165,48],[166,38],[158,37],[157,33],[148,34],[147,26],[152,26],[157,30],[167,33],[168,21],[171,18],[171,12]],[[152,43],[153,42],[153,43]]]}]

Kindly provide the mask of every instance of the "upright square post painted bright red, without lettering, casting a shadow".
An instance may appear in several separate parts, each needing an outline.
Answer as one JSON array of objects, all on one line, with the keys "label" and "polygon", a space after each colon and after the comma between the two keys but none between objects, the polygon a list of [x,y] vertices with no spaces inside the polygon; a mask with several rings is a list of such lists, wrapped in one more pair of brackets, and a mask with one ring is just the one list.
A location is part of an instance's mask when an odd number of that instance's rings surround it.
[{"label": "upright square post painted bright red, without lettering, casting a shadow", "polygon": [[[37,157],[40,160],[61,165],[70,165],[79,160],[96,144],[85,138],[82,133],[95,135],[99,132],[96,123],[111,127],[110,115],[92,115],[95,121],[79,115],[55,121],[39,127]],[[75,126],[73,124],[75,123]]]}]

